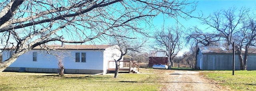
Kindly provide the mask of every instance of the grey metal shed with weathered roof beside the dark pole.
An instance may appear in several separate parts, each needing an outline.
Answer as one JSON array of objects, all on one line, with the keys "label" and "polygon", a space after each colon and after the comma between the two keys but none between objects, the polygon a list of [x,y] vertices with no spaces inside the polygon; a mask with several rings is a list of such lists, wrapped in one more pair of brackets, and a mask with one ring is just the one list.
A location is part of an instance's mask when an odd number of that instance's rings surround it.
[{"label": "grey metal shed with weathered roof beside the dark pole", "polygon": [[[255,47],[249,49],[247,70],[256,70]],[[200,70],[232,70],[232,50],[222,46],[204,46],[197,51],[197,68]],[[235,54],[235,70],[240,70],[240,60]]]}]

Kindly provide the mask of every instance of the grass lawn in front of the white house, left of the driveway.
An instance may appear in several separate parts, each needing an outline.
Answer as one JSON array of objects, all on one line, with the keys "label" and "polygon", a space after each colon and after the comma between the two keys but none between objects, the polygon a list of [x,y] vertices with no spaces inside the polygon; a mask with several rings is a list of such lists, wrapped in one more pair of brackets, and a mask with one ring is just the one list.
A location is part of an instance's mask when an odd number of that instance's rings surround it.
[{"label": "grass lawn in front of the white house, left of the driveway", "polygon": [[1,72],[0,91],[158,91],[161,85],[155,82],[160,79],[156,75],[118,74],[118,78],[114,78],[114,74],[66,74],[59,77],[57,74]]}]

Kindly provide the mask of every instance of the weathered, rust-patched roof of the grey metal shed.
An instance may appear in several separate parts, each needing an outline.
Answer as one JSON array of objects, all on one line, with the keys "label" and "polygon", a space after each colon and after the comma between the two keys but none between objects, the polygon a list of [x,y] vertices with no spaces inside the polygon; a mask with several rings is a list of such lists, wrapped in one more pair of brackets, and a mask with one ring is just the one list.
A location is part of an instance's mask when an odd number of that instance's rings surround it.
[{"label": "weathered, rust-patched roof of the grey metal shed", "polygon": [[[232,53],[233,50],[228,50],[223,46],[204,46],[199,47],[202,53]],[[242,48],[242,53],[244,53],[244,48]],[[256,54],[256,47],[250,47],[248,53]]]}]

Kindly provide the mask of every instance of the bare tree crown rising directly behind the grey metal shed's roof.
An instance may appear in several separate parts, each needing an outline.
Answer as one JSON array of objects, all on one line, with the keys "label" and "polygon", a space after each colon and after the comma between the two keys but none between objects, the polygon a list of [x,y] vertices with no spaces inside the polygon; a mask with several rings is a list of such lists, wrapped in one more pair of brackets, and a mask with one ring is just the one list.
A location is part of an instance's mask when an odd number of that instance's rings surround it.
[{"label": "bare tree crown rising directly behind the grey metal shed's roof", "polygon": [[245,8],[241,8],[238,11],[236,8],[230,8],[214,12],[210,18],[203,19],[202,21],[210,26],[209,29],[218,31],[226,42],[224,45],[228,46],[232,44],[233,35],[241,28],[240,24],[248,12],[249,10]]}]

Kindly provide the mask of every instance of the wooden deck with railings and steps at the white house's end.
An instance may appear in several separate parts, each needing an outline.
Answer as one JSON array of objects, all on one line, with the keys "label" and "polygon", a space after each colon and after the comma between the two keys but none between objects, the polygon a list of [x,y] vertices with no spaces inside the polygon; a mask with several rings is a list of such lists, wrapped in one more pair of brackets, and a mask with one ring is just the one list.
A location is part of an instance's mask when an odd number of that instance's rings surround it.
[{"label": "wooden deck with railings and steps at the white house's end", "polygon": [[[115,62],[115,61],[109,61],[109,62]],[[108,73],[109,73],[109,71],[116,70],[116,68],[109,68],[109,62],[108,62]],[[131,72],[138,73],[140,71],[140,66],[138,64],[136,64],[136,62],[134,62],[134,61],[119,61],[119,62],[124,62],[124,64],[125,64],[125,67],[120,67],[119,71],[128,71],[129,73],[131,73]]]}]

